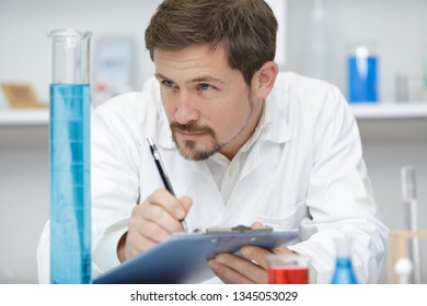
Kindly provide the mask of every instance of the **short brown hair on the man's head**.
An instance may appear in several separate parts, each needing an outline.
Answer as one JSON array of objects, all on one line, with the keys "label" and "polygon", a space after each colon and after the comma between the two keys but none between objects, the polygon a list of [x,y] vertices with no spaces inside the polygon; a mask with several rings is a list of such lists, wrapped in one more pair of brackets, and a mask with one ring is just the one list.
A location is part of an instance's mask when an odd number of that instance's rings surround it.
[{"label": "short brown hair on the man's head", "polygon": [[232,69],[251,85],[254,73],[276,54],[277,20],[264,0],[164,0],[146,30],[146,47],[181,50],[221,45]]}]

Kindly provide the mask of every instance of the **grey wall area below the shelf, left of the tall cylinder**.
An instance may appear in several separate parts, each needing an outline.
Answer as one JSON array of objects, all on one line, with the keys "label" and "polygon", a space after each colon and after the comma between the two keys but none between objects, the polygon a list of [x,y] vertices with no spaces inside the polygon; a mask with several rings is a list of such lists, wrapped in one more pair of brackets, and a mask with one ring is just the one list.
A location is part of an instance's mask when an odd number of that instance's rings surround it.
[{"label": "grey wall area below the shelf, left of the tall cylinder", "polygon": [[48,128],[0,127],[0,283],[36,283],[49,217]]}]

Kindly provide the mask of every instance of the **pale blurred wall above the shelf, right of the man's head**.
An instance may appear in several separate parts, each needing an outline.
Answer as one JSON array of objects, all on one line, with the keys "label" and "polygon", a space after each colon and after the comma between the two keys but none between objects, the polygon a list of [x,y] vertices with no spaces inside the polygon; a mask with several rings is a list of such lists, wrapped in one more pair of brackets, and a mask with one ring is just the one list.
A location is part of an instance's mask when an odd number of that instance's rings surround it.
[{"label": "pale blurred wall above the shelf, right of the man's head", "polygon": [[[308,46],[320,43],[312,35],[314,0],[287,2],[288,69],[311,75],[313,67],[307,63],[313,47]],[[355,46],[366,44],[379,59],[380,99],[394,101],[397,73],[420,81],[427,52],[426,12],[425,0],[323,0],[322,78],[347,93],[346,58]]]}]

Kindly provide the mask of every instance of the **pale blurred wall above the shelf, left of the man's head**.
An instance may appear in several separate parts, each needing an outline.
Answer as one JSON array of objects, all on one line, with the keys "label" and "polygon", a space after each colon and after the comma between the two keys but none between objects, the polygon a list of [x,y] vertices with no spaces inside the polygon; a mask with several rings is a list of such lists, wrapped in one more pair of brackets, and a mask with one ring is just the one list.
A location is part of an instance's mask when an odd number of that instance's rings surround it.
[{"label": "pale blurred wall above the shelf, left of the man's head", "polygon": [[49,49],[46,34],[55,28],[73,27],[93,33],[92,55],[96,51],[97,39],[105,36],[132,39],[136,48],[136,73],[131,85],[135,90],[140,90],[143,81],[153,74],[152,62],[145,49],[143,32],[160,2],[1,0],[0,83],[30,83],[37,95],[47,102]]}]

